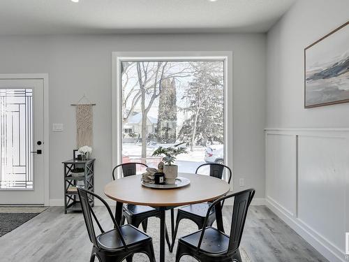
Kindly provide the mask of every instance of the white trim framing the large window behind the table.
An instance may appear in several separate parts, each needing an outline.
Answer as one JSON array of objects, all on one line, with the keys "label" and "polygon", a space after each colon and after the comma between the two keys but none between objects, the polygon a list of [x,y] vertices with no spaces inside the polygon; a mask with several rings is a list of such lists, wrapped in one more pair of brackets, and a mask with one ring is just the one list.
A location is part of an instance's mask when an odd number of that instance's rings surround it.
[{"label": "white trim framing the large window behind the table", "polygon": [[[232,119],[232,51],[168,51],[168,52],[112,52],[112,168],[121,163],[121,61],[224,61],[224,155],[225,164],[233,164]],[[228,157],[229,156],[229,157]],[[232,183],[233,184],[233,183]],[[231,184],[231,187],[232,187]]]}]

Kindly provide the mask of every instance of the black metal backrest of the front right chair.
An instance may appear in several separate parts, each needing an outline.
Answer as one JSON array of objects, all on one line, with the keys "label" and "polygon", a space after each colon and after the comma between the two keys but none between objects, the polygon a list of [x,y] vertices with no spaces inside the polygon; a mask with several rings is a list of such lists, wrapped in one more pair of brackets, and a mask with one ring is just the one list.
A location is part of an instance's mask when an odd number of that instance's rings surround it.
[{"label": "black metal backrest of the front right chair", "polygon": [[254,195],[255,189],[246,189],[244,191],[240,191],[234,194],[230,194],[228,196],[218,198],[210,205],[209,209],[207,210],[204,227],[202,228],[200,240],[198,242],[198,252],[200,252],[200,245],[205,234],[205,228],[207,226],[207,221],[211,209],[214,208],[214,206],[218,202],[223,202],[227,198],[234,198],[234,206],[232,208],[232,222],[230,227],[230,239],[227,253],[235,252],[235,250],[239,248],[242,239],[242,233],[244,231],[248,207],[251,204]]}]

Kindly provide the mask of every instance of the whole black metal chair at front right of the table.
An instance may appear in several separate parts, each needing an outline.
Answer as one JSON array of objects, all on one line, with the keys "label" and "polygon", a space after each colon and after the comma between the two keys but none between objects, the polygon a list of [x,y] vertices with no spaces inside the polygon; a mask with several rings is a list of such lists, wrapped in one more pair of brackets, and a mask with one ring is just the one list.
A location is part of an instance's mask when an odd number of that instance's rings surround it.
[{"label": "whole black metal chair at front right of the table", "polygon": [[[223,196],[214,201],[207,210],[204,227],[195,233],[186,235],[178,240],[176,262],[181,256],[193,256],[200,262],[242,262],[239,245],[244,231],[248,206],[251,204],[255,194],[254,189]],[[218,229],[207,226],[209,214],[214,206],[227,198],[234,197],[232,208],[232,221],[230,235],[218,231]]]}]

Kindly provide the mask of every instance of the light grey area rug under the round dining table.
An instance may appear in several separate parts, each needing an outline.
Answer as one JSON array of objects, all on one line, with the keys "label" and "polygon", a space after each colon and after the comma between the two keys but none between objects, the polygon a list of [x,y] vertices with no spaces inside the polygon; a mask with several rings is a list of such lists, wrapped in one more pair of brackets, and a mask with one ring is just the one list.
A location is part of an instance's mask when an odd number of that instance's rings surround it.
[{"label": "light grey area rug under the round dining table", "polygon": [[[169,212],[167,212],[169,213]],[[168,231],[170,233],[170,216],[166,216],[166,222],[168,224]],[[230,232],[230,222],[223,217],[223,225],[226,233]],[[213,226],[216,226],[216,223],[214,223]],[[140,228],[142,228],[140,226]],[[148,221],[148,229],[147,229],[147,234],[153,238],[153,245],[154,245],[154,252],[155,252],[155,257],[156,260],[159,258],[159,245],[160,245],[160,240],[159,240],[159,228],[160,228],[160,221],[159,219],[156,219],[154,217],[151,217]],[[193,233],[195,231],[198,231],[198,226],[196,226],[193,221],[183,219],[181,220],[178,228],[178,235],[176,239],[176,244],[174,245],[173,252],[170,253],[168,251],[168,246],[165,246],[165,259],[166,262],[174,262],[176,261],[176,250],[177,250],[177,240],[181,236],[188,235],[190,233]],[[251,259],[248,257],[248,254],[246,253],[244,247],[240,247],[240,254],[242,256],[242,261],[243,262],[251,262]],[[146,255],[144,254],[135,254],[133,256],[133,261],[135,262],[149,262],[149,259]],[[181,262],[198,262],[196,259],[193,259],[190,256],[182,256],[181,257]]]}]

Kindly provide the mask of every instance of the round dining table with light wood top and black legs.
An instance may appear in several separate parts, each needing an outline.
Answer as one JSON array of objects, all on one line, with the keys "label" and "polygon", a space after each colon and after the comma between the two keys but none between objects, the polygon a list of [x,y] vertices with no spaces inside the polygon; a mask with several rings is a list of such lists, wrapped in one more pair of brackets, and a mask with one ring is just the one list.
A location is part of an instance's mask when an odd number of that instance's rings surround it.
[{"label": "round dining table with light wood top and black legs", "polygon": [[[141,175],[131,175],[108,183],[104,188],[105,196],[117,201],[115,219],[120,224],[124,203],[149,205],[160,212],[160,261],[165,261],[165,211],[171,210],[172,235],[174,228],[173,208],[214,201],[230,191],[230,185],[216,177],[179,173],[190,184],[176,189],[152,189],[141,184]],[[217,228],[224,232],[221,205],[215,207]],[[174,241],[174,239],[172,239]]]}]

